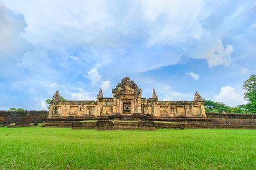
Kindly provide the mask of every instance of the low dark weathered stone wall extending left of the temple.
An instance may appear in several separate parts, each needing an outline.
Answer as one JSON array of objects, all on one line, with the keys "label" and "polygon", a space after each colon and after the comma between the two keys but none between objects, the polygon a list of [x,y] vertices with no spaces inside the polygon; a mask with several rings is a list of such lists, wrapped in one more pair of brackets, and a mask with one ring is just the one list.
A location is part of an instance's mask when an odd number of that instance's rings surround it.
[{"label": "low dark weathered stone wall extending left of the temple", "polygon": [[0,111],[0,124],[19,124],[42,123],[48,117],[48,111]]}]

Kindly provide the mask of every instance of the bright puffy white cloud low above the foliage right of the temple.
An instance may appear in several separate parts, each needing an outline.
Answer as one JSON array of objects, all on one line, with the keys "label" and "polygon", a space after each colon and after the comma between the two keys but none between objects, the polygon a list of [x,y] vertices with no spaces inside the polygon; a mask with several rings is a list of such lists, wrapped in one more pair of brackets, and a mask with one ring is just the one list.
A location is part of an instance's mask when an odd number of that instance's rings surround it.
[{"label": "bright puffy white cloud low above the foliage right of the temple", "polygon": [[243,94],[237,94],[233,87],[221,87],[221,92],[214,96],[214,100],[217,102],[223,102],[228,106],[237,106],[238,104],[244,104],[246,101],[243,99]]}]

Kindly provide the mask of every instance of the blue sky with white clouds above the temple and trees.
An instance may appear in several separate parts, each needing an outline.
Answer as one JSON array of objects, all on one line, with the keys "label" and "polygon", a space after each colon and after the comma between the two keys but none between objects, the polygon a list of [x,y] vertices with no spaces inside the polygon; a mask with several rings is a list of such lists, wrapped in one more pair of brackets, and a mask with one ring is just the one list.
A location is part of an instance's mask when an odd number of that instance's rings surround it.
[{"label": "blue sky with white clouds above the temple and trees", "polygon": [[246,103],[256,1],[0,0],[0,110],[104,97],[125,76],[160,100]]}]

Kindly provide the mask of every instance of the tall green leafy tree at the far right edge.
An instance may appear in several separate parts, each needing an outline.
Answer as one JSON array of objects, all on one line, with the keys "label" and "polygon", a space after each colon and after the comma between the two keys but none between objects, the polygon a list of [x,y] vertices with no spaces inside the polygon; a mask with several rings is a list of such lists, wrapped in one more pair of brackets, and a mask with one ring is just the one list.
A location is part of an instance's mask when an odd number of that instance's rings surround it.
[{"label": "tall green leafy tree at the far right edge", "polygon": [[256,74],[252,74],[250,78],[244,81],[243,89],[246,90],[244,99],[248,101],[245,105],[246,109],[248,109],[250,113],[256,113]]}]

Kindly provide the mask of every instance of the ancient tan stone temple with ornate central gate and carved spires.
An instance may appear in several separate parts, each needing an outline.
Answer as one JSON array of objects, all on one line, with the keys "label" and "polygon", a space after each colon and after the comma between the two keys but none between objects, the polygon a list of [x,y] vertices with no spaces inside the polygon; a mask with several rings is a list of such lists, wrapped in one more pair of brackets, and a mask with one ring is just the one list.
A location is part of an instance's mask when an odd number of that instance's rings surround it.
[{"label": "ancient tan stone temple with ornate central gate and carved spires", "polygon": [[112,89],[113,97],[97,101],[61,101],[57,91],[52,97],[49,117],[100,117],[104,115],[152,115],[154,117],[205,117],[204,99],[196,92],[194,101],[159,101],[155,89],[152,98],[141,97],[141,89],[129,77]]}]

